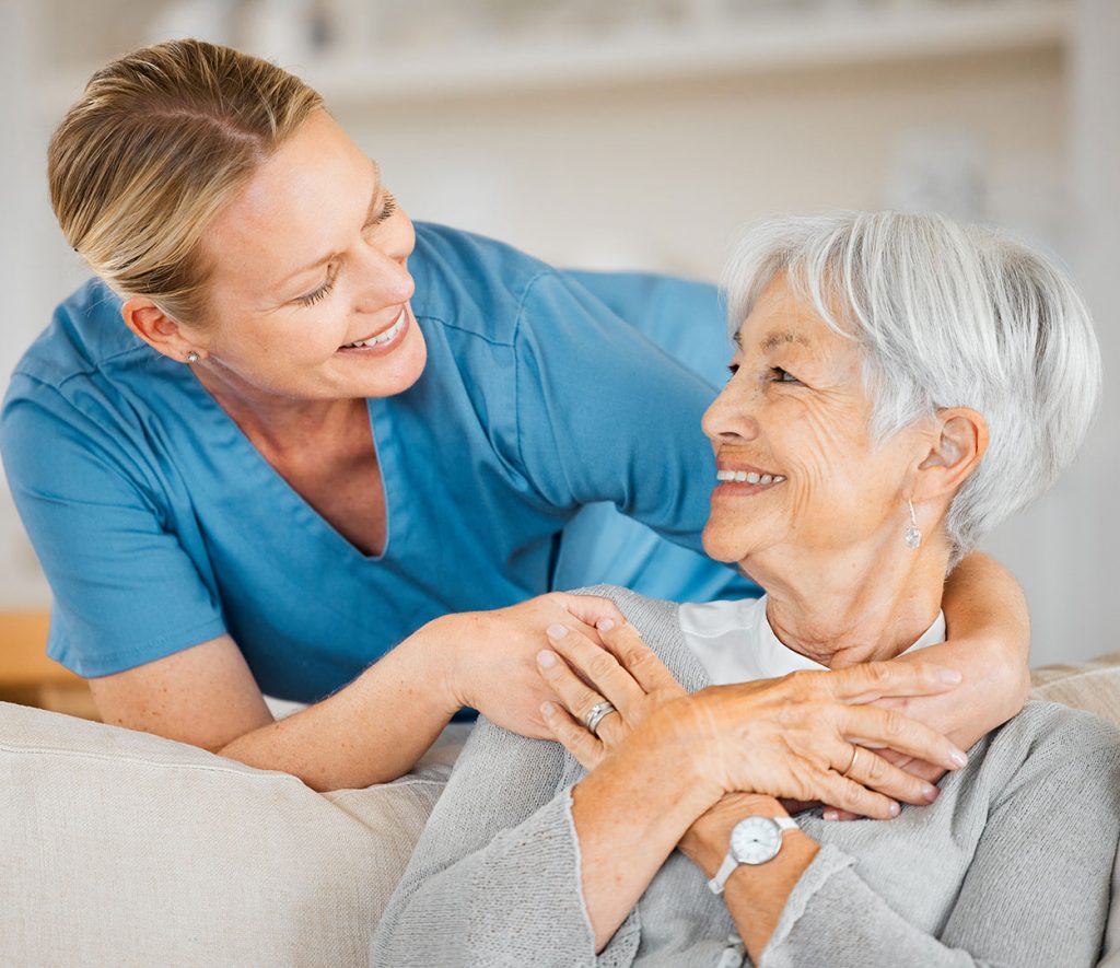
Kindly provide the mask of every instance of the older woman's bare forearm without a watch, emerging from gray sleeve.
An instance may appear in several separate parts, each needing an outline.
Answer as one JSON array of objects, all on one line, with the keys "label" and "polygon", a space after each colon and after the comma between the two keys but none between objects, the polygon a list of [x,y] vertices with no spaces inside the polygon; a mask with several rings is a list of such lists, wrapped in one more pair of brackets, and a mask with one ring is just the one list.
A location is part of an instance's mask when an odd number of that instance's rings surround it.
[{"label": "older woman's bare forearm without a watch, emerging from gray sleeve", "polygon": [[595,950],[610,940],[684,831],[710,806],[670,750],[631,737],[572,790],[581,883]]}]

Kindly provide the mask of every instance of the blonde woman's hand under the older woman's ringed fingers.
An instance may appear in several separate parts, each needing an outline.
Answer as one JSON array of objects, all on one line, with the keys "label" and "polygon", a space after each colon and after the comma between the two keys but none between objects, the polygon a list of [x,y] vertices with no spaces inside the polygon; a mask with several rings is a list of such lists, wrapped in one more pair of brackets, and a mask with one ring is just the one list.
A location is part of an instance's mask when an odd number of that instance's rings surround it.
[{"label": "blonde woman's hand under the older woman's ringed fingers", "polygon": [[[541,629],[564,622],[590,640],[595,623],[623,622],[608,598],[552,592],[508,608],[445,615],[429,625],[451,711],[472,706],[513,733],[551,739],[541,704],[556,695],[536,673]],[[598,648],[598,646],[596,646]],[[601,651],[601,649],[599,650]]]}]

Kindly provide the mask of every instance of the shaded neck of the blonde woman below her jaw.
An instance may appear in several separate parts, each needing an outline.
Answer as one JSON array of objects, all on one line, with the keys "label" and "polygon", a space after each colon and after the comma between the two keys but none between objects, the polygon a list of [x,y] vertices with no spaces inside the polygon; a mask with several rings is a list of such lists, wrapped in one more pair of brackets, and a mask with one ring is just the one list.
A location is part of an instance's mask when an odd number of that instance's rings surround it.
[{"label": "shaded neck of the blonde woman below her jaw", "polygon": [[365,401],[361,398],[301,400],[283,397],[246,383],[213,364],[197,366],[194,374],[265,456],[314,450],[324,440],[339,439],[356,411],[361,411],[364,426]]}]

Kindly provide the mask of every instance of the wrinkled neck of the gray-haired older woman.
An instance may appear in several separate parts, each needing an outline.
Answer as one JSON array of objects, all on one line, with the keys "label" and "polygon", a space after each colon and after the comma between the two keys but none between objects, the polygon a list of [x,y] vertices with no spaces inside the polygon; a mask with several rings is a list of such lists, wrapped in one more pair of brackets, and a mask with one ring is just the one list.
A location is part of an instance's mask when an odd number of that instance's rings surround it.
[{"label": "wrinkled neck of the gray-haired older woman", "polygon": [[941,609],[948,562],[940,536],[915,551],[898,530],[843,552],[781,549],[743,564],[766,589],[766,618],[782,643],[840,669],[894,659],[921,639]]}]

